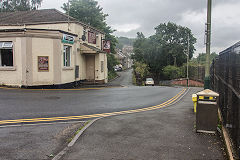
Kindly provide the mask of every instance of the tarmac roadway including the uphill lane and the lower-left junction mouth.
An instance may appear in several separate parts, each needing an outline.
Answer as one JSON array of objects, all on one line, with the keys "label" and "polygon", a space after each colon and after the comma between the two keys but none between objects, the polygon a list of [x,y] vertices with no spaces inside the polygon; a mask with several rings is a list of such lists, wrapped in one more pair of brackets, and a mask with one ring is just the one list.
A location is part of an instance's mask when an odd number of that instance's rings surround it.
[{"label": "tarmac roadway including the uphill lane and the lower-left junction mouth", "polygon": [[[160,104],[182,88],[131,86],[131,70],[97,90],[0,89],[0,120],[74,116],[123,111]],[[85,122],[0,126],[0,159],[51,159]]]}]

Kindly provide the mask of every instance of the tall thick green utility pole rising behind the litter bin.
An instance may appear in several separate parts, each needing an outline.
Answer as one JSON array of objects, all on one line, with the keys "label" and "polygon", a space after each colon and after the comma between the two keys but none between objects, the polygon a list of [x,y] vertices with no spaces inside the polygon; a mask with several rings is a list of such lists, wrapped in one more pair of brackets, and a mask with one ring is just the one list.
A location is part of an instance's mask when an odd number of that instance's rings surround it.
[{"label": "tall thick green utility pole rising behind the litter bin", "polygon": [[211,18],[212,18],[212,0],[208,0],[207,8],[207,30],[206,30],[206,66],[204,89],[210,88],[210,47],[211,47]]}]

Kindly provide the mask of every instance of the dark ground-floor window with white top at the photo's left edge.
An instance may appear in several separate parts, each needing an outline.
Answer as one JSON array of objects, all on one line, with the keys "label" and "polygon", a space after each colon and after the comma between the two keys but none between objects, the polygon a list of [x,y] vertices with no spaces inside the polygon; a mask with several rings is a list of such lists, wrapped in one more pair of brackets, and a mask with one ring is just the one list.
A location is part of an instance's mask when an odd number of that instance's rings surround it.
[{"label": "dark ground-floor window with white top at the photo's left edge", "polygon": [[0,67],[13,66],[13,43],[0,42]]}]

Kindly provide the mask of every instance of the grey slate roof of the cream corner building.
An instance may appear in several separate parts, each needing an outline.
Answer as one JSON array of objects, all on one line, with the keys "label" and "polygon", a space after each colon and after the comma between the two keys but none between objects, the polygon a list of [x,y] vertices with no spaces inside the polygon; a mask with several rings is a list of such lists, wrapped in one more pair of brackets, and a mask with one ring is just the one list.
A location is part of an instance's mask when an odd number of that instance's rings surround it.
[{"label": "grey slate roof of the cream corner building", "polygon": [[[78,22],[73,17],[70,17],[69,20],[72,22]],[[56,9],[0,13],[0,25],[24,25],[67,21],[68,16]]]}]

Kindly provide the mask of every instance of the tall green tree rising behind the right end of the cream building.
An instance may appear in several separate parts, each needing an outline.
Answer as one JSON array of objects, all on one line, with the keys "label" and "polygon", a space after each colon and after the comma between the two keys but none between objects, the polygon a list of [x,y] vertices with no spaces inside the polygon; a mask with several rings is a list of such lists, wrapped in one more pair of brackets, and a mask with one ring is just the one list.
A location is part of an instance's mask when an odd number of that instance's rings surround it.
[{"label": "tall green tree rising behind the right end of the cream building", "polygon": [[107,25],[108,14],[103,13],[103,8],[98,5],[98,2],[95,0],[70,0],[69,3],[69,7],[68,3],[64,3],[62,9],[77,20],[103,31],[105,39],[111,41],[111,53],[115,53],[117,39],[111,35],[115,30]]}]

